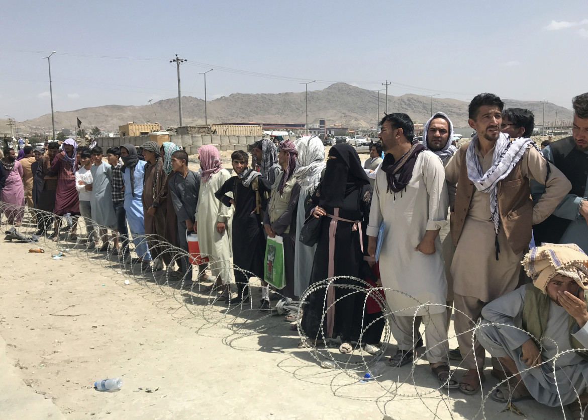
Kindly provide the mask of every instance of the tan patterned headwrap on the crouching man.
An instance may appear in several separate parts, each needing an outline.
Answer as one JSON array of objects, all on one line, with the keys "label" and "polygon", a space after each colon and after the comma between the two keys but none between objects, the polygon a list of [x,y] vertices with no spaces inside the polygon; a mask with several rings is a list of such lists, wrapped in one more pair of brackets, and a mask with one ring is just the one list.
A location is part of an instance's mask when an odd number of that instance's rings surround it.
[{"label": "tan patterned headwrap on the crouching man", "polygon": [[549,281],[558,274],[573,278],[581,288],[588,289],[588,256],[576,244],[537,246],[524,256],[523,266],[544,294]]}]

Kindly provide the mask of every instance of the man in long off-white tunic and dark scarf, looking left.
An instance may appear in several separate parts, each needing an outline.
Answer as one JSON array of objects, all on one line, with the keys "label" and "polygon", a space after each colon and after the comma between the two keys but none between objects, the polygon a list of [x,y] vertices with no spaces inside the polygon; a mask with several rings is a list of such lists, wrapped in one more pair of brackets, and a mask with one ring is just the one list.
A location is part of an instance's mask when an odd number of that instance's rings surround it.
[{"label": "man in long off-white tunic and dark scarf, looking left", "polygon": [[408,115],[388,114],[381,125],[378,137],[387,155],[376,176],[367,233],[368,252],[375,256],[384,223],[380,275],[398,344],[390,364],[413,360],[413,317],[422,316],[433,374],[442,386],[456,388],[447,359],[447,281],[439,239],[449,207],[443,164],[422,144],[412,144],[415,129]]}]

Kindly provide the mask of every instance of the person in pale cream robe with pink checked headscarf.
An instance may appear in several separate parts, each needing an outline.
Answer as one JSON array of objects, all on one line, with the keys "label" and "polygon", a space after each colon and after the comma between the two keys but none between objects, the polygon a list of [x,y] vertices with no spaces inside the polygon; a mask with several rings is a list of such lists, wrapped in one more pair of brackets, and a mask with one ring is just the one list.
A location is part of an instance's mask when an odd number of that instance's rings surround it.
[{"label": "person in pale cream robe with pink checked headscarf", "polygon": [[[234,283],[233,268],[230,264],[230,232],[233,208],[222,204],[215,192],[230,178],[229,171],[220,164],[218,149],[213,145],[198,148],[198,159],[202,168],[198,206],[196,206],[194,230],[198,232],[200,252],[209,259],[208,269],[216,277],[216,286]],[[213,286],[214,287],[214,286]],[[223,296],[229,297],[229,291]],[[221,298],[222,299],[222,298]]]}]

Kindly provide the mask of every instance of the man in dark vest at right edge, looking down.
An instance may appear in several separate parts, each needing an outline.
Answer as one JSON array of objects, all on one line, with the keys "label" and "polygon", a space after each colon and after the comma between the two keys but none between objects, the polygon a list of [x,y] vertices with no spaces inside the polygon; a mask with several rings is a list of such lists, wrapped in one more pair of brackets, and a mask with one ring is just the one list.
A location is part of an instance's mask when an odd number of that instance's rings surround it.
[{"label": "man in dark vest at right edge, looking down", "polygon": [[[588,252],[588,92],[572,101],[572,135],[554,141],[543,149],[543,156],[563,172],[572,183],[553,215],[533,228],[535,243],[576,244]],[[542,185],[532,185],[533,199],[544,194]]]}]

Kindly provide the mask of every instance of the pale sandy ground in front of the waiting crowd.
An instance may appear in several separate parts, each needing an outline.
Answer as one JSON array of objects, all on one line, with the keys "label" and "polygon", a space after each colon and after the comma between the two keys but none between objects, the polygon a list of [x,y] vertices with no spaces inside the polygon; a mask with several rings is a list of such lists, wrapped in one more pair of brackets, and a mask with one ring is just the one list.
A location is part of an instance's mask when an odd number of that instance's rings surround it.
[{"label": "pale sandy ground in front of the waiting crowd", "polygon": [[[44,254],[0,243],[3,420],[472,419],[483,418],[482,399],[497,383],[486,369],[482,395],[443,394],[420,359],[413,370],[386,367],[378,382],[360,384],[365,367],[320,368],[297,348],[298,334],[283,316],[227,312],[197,288],[60,244],[66,256],[56,261],[52,242],[35,245]],[[257,302],[259,289],[253,294]],[[390,345],[387,355],[394,352]],[[356,351],[352,361],[360,358],[372,360]],[[94,381],[113,377],[122,378],[121,391],[93,389]],[[534,402],[516,405],[529,418],[562,416]],[[489,399],[484,409],[488,419],[520,418]]]}]

